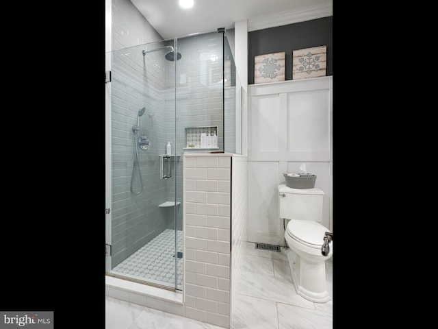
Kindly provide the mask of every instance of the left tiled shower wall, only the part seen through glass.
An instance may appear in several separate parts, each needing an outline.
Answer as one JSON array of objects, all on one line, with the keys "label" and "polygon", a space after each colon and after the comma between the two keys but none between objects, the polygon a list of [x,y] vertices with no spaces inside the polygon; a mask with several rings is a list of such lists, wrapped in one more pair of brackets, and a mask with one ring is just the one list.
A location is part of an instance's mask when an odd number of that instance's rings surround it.
[{"label": "left tiled shower wall, only the part seen through glass", "polygon": [[[167,185],[159,180],[159,152],[156,141],[166,139],[166,90],[164,71],[143,62],[142,49],[124,49],[112,56],[112,266],[151,241],[168,226],[168,219],[158,204],[167,201]],[[143,64],[144,63],[144,64]],[[162,64],[163,65],[163,64]],[[146,134],[153,145],[149,151],[139,149],[143,191],[131,193],[131,176],[136,154],[135,134],[138,111],[139,134]],[[163,152],[162,152],[163,153]],[[135,191],[140,190],[136,173]]]}]

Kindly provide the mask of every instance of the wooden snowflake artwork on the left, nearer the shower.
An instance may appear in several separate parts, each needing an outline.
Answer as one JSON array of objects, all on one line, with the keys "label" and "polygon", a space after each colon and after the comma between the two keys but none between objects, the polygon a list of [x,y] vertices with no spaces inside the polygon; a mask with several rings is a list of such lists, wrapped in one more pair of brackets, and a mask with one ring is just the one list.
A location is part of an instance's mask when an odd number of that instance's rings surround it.
[{"label": "wooden snowflake artwork on the left, nearer the shower", "polygon": [[285,80],[285,51],[254,56],[254,83]]}]

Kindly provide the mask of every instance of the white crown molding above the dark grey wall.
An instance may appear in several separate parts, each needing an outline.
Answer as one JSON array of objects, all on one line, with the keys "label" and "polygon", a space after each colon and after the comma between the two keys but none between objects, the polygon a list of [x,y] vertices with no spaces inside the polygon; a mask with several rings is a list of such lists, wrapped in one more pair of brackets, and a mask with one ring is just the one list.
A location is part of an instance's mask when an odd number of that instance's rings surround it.
[{"label": "white crown molding above the dark grey wall", "polygon": [[248,20],[248,32],[257,31],[258,29],[268,29],[270,27],[289,25],[312,19],[321,19],[322,17],[333,16],[333,3],[326,5],[315,5],[293,12],[283,12],[281,14],[260,16]]}]

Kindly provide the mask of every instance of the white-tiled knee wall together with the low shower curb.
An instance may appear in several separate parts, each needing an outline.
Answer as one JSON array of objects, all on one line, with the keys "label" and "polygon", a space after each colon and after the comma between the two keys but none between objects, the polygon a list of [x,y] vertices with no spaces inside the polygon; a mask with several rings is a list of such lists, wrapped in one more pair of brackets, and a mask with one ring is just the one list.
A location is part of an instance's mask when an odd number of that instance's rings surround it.
[{"label": "white-tiled knee wall together with the low shower curb", "polygon": [[[230,328],[231,188],[233,188],[233,263],[243,255],[246,234],[246,158],[236,158],[231,186],[231,154],[185,154],[183,302],[178,293],[107,277],[106,295],[168,313]],[[234,173],[235,171],[235,173]],[[239,175],[240,173],[240,175]],[[237,267],[233,265],[233,287]],[[157,293],[157,291],[159,293]]]}]

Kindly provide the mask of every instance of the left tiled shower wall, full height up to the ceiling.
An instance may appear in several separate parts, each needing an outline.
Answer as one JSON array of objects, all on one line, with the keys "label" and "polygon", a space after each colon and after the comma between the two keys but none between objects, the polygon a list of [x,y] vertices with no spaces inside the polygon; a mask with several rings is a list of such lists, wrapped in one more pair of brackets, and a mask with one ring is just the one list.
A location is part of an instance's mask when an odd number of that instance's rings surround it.
[{"label": "left tiled shower wall, full height up to the ceiling", "polygon": [[[169,211],[157,205],[166,201],[166,184],[159,181],[157,152],[140,151],[144,191],[130,191],[134,160],[133,125],[143,106],[140,134],[166,140],[167,95],[165,60],[151,56],[143,62],[142,45],[162,40],[129,0],[112,0],[112,266],[162,232]],[[159,42],[157,42],[159,45]],[[157,46],[158,47],[158,46]],[[115,52],[116,49],[123,49]],[[174,97],[175,99],[175,97]],[[153,143],[153,141],[151,141]],[[155,144],[155,145],[154,145]],[[157,147],[157,143],[153,143]],[[140,186],[136,178],[136,190]],[[153,187],[153,188],[151,188]],[[147,214],[147,215],[145,215]],[[144,234],[147,232],[147,234]]]}]

